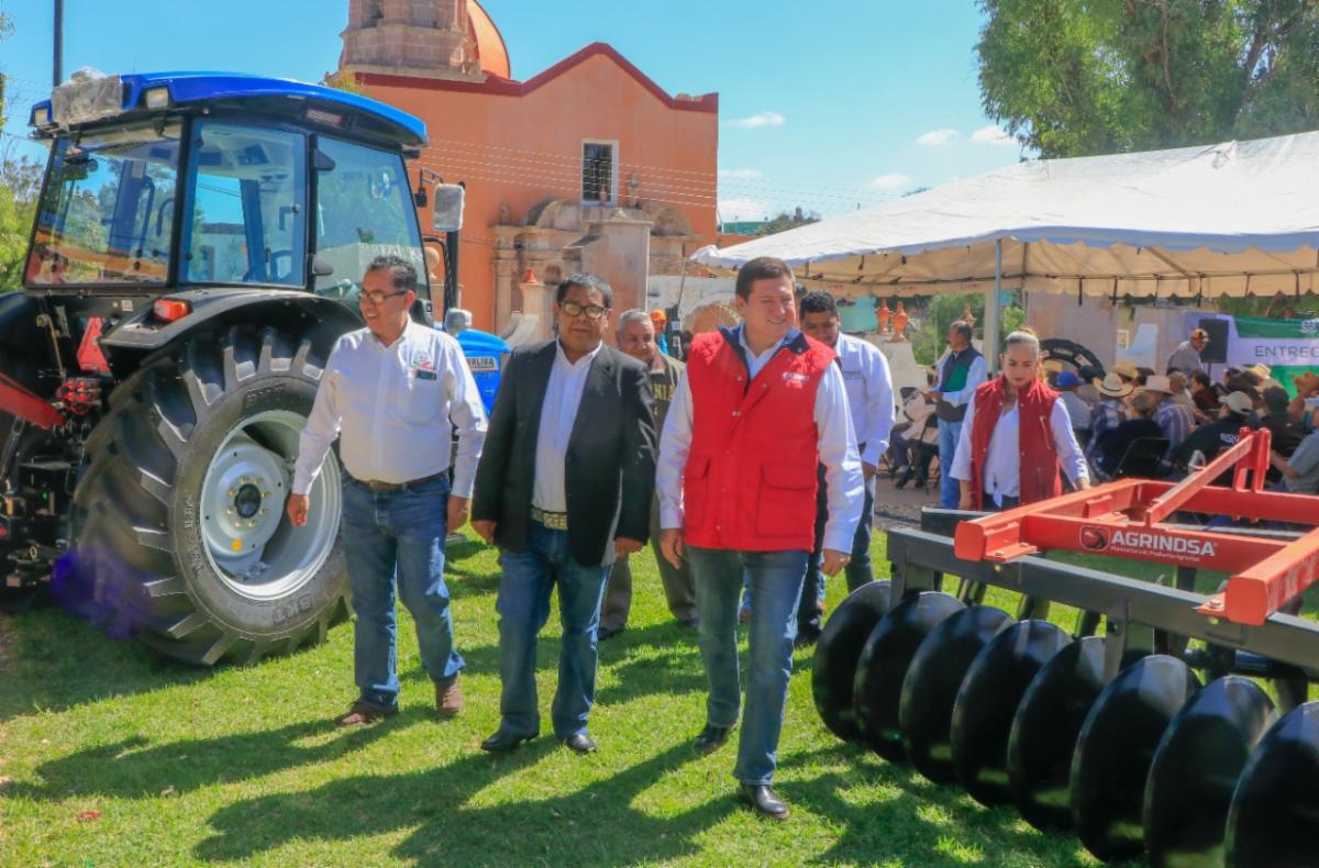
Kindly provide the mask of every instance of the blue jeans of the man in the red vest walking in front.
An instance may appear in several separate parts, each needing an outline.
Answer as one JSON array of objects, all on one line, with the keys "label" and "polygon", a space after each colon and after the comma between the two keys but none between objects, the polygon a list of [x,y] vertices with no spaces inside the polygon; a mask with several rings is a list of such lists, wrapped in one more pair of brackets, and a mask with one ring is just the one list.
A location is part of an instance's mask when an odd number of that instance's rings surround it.
[{"label": "blue jeans of the man in the red vest walking in front", "polygon": [[715,727],[737,723],[741,707],[737,598],[743,575],[751,578],[751,679],[733,766],[733,776],[743,784],[769,784],[774,778],[806,557],[805,550],[728,551],[687,546],[696,584],[700,657],[710,682],[706,723]]}]

